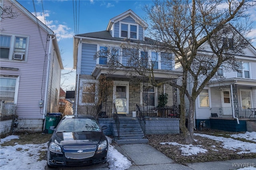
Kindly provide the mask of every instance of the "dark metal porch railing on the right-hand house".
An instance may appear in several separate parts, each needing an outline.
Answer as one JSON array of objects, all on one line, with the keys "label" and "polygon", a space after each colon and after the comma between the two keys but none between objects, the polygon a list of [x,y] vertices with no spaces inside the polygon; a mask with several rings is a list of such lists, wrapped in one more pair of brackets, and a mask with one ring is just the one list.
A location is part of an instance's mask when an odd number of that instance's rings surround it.
[{"label": "dark metal porch railing on the right-hand house", "polygon": [[[212,107],[211,109],[211,117],[233,117],[232,115],[232,107]],[[244,107],[236,107],[235,108],[235,117],[237,118],[248,118],[251,120],[256,120],[256,116],[253,111]]]}]

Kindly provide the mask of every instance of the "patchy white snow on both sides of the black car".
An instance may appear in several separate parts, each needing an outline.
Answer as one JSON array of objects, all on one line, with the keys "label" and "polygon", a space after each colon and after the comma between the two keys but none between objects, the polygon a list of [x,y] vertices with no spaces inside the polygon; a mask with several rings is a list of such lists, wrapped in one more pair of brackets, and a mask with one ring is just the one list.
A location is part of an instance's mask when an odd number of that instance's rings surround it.
[{"label": "patchy white snow on both sides of the black car", "polygon": [[[19,136],[10,135],[1,139],[1,144],[16,139]],[[114,146],[110,145],[112,139],[108,138],[108,167],[110,170],[125,170],[132,163],[120,154]],[[0,146],[0,169],[1,170],[44,170],[47,161],[38,160],[39,151],[47,151],[47,142],[44,144],[16,144],[14,146]]]}]

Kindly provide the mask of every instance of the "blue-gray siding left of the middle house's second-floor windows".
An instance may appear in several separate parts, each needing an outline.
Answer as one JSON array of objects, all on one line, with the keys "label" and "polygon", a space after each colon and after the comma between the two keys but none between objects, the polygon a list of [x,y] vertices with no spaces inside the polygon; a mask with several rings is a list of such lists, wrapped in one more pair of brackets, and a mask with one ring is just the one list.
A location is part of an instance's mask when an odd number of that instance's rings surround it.
[{"label": "blue-gray siding left of the middle house's second-floor windows", "polygon": [[82,60],[81,60],[81,72],[80,74],[91,75],[92,70],[96,66],[96,59],[94,54],[97,52],[96,44],[82,44]]}]

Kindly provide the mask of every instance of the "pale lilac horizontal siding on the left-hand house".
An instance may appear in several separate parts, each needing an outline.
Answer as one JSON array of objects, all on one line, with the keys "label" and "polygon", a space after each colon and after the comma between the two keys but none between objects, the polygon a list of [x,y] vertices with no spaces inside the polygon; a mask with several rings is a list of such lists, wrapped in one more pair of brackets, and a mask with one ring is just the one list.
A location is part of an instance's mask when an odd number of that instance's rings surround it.
[{"label": "pale lilac horizontal siding on the left-hand house", "polygon": [[[4,1],[4,5],[11,5],[10,1]],[[19,119],[42,119],[43,107],[39,107],[38,103],[39,100],[44,100],[45,95],[49,51],[48,34],[42,28],[39,33],[38,26],[34,21],[16,6],[13,8],[20,15],[15,19],[2,19],[0,23],[5,31],[1,34],[29,36],[27,60],[7,61],[1,59],[1,67],[18,68],[18,71],[1,70],[1,75],[18,75],[20,77],[16,105],[16,115]],[[60,64],[56,63],[55,66],[57,65]]]}]

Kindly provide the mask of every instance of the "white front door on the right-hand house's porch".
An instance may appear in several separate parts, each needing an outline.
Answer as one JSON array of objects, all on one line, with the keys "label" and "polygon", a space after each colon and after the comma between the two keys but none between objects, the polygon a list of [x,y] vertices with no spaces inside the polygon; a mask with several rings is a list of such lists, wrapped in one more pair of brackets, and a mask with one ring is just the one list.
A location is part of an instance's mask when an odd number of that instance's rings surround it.
[{"label": "white front door on the right-hand house's porch", "polygon": [[222,115],[232,115],[231,94],[229,89],[222,91]]}]

